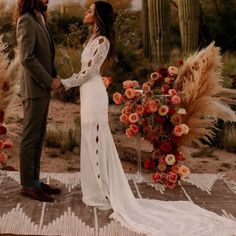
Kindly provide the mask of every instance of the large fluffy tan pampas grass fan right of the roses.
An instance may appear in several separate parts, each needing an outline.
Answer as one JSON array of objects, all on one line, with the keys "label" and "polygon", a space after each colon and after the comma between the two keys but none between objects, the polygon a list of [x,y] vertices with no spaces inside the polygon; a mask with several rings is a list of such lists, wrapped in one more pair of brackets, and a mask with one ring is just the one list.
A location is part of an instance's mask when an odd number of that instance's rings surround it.
[{"label": "large fluffy tan pampas grass fan right of the roses", "polygon": [[236,121],[229,104],[235,103],[236,92],[223,88],[220,49],[211,43],[190,56],[179,71],[175,87],[181,92],[182,105],[187,110],[184,123],[190,128],[181,142],[209,141],[214,136],[217,119]]}]

